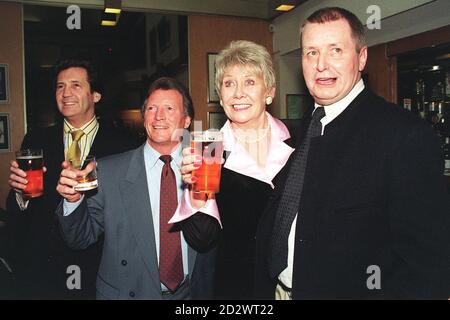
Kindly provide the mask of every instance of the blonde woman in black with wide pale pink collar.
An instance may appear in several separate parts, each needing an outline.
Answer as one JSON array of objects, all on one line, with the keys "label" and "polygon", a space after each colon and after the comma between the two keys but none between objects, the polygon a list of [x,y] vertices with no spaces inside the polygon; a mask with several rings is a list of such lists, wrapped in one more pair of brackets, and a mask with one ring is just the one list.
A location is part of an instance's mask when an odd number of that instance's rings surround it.
[{"label": "blonde woman in black with wide pale pink collar", "polygon": [[[276,176],[293,152],[286,125],[266,107],[275,97],[275,73],[267,50],[250,41],[233,41],[216,59],[216,90],[228,121],[222,127],[225,162],[220,192],[199,200],[185,192],[173,221],[199,250],[217,250],[215,298],[253,295],[255,234]],[[198,168],[184,150],[183,180],[192,184]]]}]

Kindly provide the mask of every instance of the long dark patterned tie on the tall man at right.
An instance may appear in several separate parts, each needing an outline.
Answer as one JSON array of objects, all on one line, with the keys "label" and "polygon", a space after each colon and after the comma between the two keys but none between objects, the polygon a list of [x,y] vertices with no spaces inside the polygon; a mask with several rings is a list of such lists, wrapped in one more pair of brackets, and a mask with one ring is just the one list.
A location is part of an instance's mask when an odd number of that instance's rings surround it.
[{"label": "long dark patterned tie on the tall man at right", "polygon": [[314,111],[305,139],[303,139],[300,147],[295,151],[292,159],[272,231],[269,260],[269,272],[272,277],[277,277],[287,267],[289,232],[291,231],[292,222],[300,205],[309,145],[311,138],[322,134],[322,123],[320,119],[324,116],[325,110],[323,107],[318,107]]}]

